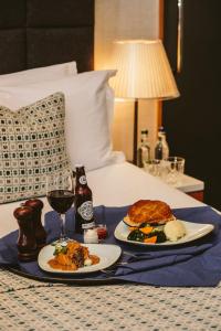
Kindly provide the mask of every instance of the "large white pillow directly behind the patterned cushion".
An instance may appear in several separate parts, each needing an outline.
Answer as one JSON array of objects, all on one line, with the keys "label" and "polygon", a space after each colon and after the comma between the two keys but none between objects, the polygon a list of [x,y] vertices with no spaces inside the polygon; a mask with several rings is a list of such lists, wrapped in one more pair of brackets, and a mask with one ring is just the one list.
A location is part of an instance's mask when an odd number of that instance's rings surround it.
[{"label": "large white pillow directly behind the patterned cushion", "polygon": [[116,71],[86,72],[53,82],[19,87],[0,87],[0,105],[18,109],[52,93],[65,95],[65,135],[72,167],[83,163],[86,170],[125,160],[113,152],[109,118],[114,95],[108,86]]}]

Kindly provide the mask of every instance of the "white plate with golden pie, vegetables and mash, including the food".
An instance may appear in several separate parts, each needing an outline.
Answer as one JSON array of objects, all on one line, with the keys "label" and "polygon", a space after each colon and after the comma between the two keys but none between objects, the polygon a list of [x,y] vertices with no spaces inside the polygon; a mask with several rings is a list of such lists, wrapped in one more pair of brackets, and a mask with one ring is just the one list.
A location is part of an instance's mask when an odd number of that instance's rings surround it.
[{"label": "white plate with golden pie, vegetables and mash, including the food", "polygon": [[115,228],[118,241],[137,245],[169,246],[186,244],[212,232],[212,224],[177,220],[162,201],[139,200]]}]

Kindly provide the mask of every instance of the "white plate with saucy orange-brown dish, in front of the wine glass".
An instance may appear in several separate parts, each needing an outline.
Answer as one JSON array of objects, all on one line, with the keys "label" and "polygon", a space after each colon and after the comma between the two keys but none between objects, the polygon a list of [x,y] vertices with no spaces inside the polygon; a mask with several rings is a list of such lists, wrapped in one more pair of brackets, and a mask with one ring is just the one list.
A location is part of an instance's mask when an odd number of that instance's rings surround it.
[{"label": "white plate with saucy orange-brown dish, in front of the wine glass", "polygon": [[88,274],[108,268],[117,261],[117,245],[63,242],[43,247],[38,257],[41,269],[54,274]]}]

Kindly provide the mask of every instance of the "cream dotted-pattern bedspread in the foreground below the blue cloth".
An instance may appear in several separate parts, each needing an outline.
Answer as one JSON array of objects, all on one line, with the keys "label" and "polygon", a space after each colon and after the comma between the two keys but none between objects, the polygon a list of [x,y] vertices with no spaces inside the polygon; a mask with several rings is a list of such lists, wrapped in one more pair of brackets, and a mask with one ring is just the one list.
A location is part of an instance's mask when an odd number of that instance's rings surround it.
[{"label": "cream dotted-pattern bedspread in the foreground below the blue cloth", "polygon": [[221,287],[65,286],[0,269],[0,330],[221,330]]}]

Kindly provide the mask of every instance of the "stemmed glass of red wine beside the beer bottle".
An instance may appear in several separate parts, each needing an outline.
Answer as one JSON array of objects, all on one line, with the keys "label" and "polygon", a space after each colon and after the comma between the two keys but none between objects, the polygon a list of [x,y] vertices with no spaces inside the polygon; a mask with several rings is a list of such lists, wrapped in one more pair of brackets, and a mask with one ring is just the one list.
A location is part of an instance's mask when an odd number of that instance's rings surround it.
[{"label": "stemmed glass of red wine beside the beer bottle", "polygon": [[61,221],[59,242],[67,242],[65,233],[65,213],[74,202],[74,180],[70,172],[51,174],[46,179],[46,197],[51,207],[57,212]]}]

